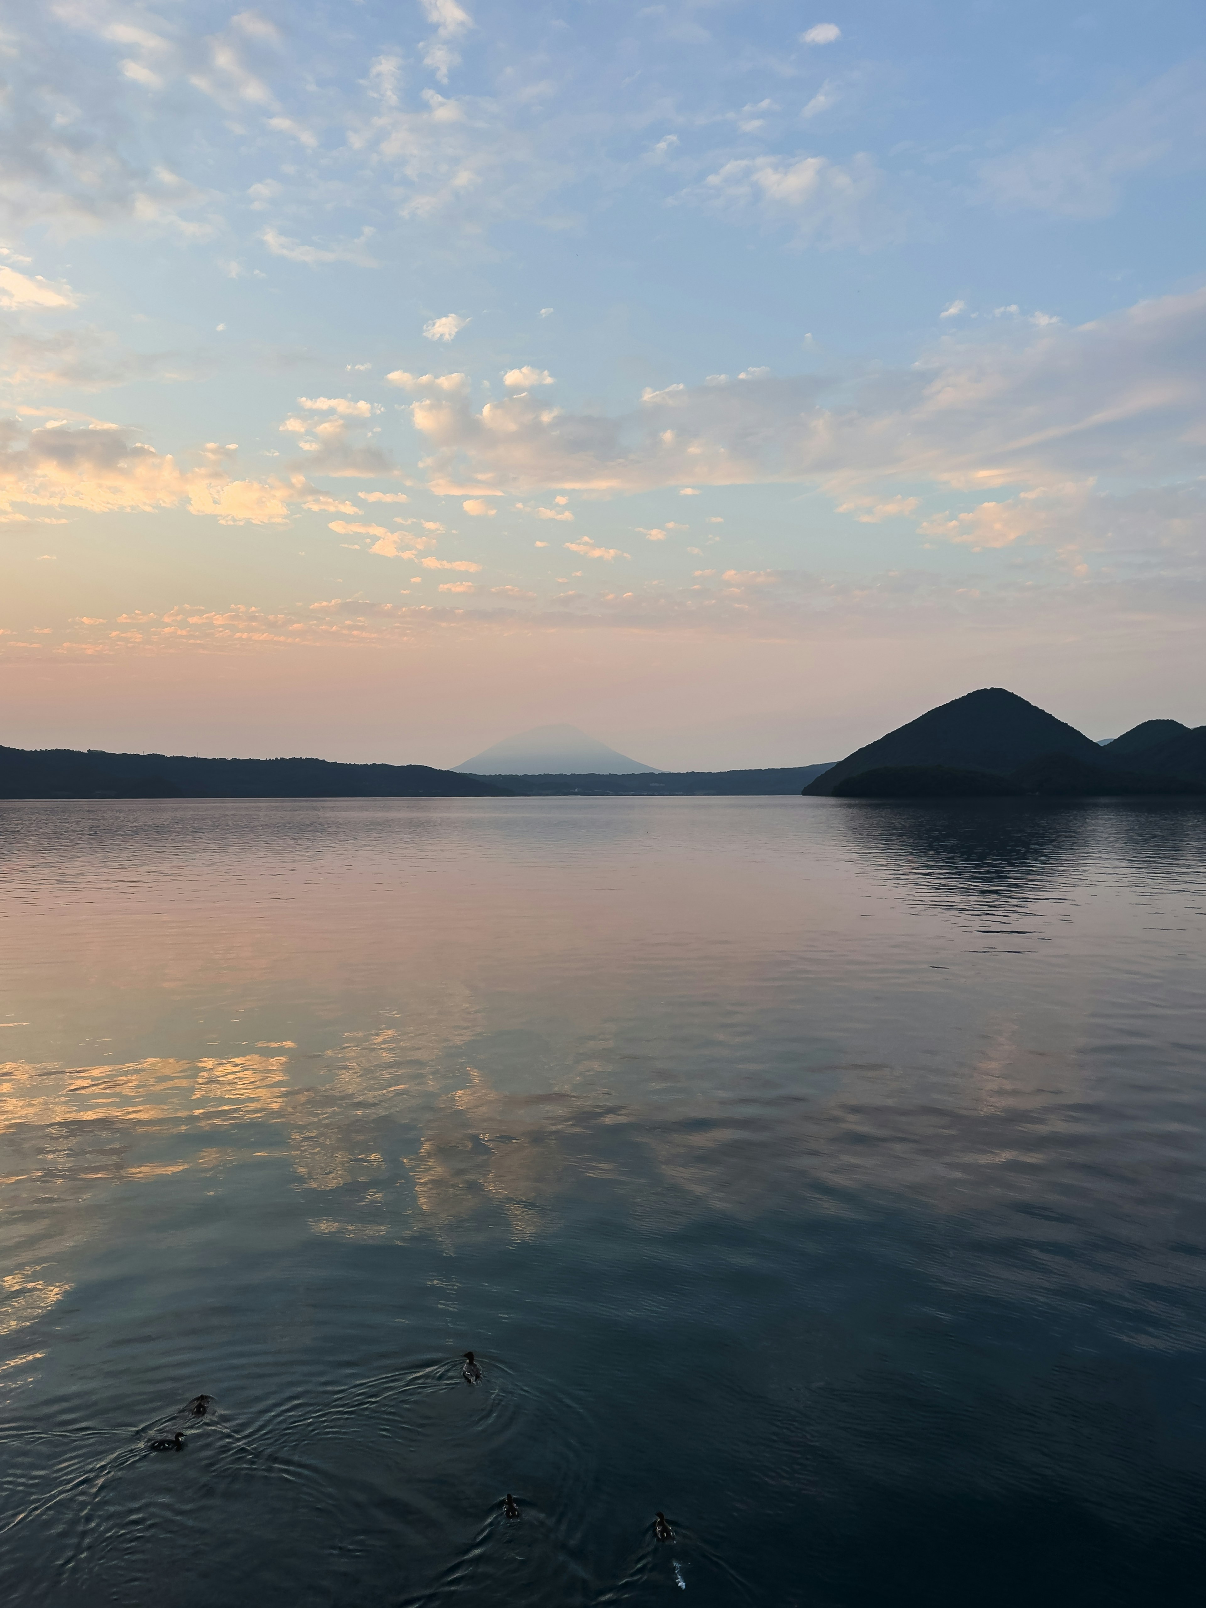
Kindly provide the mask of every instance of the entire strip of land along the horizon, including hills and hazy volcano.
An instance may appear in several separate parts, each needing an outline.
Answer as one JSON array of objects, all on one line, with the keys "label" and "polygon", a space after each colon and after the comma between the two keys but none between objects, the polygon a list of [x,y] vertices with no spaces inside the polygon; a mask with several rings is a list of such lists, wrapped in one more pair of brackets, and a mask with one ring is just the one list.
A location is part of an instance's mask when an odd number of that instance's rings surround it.
[{"label": "entire strip of land along the horizon, including hills and hazy volcano", "polygon": [[1206,725],[1145,720],[1095,743],[1002,687],[929,709],[846,759],[656,770],[572,725],[534,727],[455,770],[0,746],[3,799],[183,798],[1100,798],[1206,794]]}]

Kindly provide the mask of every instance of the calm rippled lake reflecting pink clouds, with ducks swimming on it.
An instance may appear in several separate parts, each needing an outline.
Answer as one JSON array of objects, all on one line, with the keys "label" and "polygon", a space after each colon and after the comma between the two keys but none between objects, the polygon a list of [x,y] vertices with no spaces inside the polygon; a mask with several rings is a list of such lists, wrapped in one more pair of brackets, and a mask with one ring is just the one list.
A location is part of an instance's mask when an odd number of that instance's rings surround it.
[{"label": "calm rippled lake reflecting pink clouds, with ducks swimming on it", "polygon": [[1201,1602],[1204,851],[0,806],[0,1597]]}]

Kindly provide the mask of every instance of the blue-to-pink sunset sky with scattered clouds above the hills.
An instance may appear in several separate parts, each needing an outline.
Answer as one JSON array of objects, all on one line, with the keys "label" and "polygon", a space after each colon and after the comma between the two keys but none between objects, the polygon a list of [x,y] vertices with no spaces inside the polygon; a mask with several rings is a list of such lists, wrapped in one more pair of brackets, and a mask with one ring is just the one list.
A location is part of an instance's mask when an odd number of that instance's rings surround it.
[{"label": "blue-to-pink sunset sky with scattered clouds above the hills", "polygon": [[1206,722],[1206,10],[0,6],[0,741]]}]

